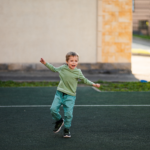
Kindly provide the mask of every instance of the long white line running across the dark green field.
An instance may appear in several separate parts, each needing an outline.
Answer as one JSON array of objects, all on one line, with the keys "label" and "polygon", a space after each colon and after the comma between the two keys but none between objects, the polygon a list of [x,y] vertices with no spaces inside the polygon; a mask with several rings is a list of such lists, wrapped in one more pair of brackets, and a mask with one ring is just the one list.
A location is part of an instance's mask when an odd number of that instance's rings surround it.
[{"label": "long white line running across the dark green field", "polygon": [[[10,107],[51,107],[51,105],[6,105],[0,108]],[[150,105],[75,105],[75,107],[150,107]]]}]

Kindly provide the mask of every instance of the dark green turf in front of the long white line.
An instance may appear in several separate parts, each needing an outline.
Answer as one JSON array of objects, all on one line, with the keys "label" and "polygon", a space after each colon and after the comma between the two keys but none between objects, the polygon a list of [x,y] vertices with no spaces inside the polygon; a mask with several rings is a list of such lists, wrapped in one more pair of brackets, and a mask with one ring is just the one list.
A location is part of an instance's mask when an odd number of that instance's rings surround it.
[{"label": "dark green turf in front of the long white line", "polygon": [[148,107],[75,107],[72,137],[66,139],[63,128],[53,133],[49,108],[1,108],[0,145],[2,150],[149,150],[148,118]]}]

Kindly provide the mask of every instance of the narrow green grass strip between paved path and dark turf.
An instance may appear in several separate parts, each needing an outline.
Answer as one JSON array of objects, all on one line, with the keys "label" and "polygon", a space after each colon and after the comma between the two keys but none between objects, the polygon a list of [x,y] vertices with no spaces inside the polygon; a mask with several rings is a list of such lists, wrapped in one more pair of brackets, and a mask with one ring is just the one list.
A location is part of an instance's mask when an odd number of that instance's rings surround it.
[{"label": "narrow green grass strip between paved path and dark turf", "polygon": [[[59,82],[14,82],[14,81],[0,81],[0,87],[53,87],[58,86]],[[142,83],[142,82],[104,82],[97,81],[96,83],[100,83],[101,87],[99,88],[101,91],[123,91],[123,92],[131,92],[131,91],[150,91],[150,82]],[[83,84],[83,82],[79,82],[79,84]]]}]

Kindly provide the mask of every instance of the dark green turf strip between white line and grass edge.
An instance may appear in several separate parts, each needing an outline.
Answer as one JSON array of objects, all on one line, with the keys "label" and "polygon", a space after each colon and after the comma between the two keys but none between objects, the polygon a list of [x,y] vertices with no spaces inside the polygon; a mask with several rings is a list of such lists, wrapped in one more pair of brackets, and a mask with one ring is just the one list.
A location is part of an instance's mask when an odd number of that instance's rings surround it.
[{"label": "dark green turf strip between white line and grass edge", "polygon": [[[0,105],[51,105],[56,87],[0,88]],[[97,92],[92,87],[78,87],[76,105],[146,105],[150,92]]]}]

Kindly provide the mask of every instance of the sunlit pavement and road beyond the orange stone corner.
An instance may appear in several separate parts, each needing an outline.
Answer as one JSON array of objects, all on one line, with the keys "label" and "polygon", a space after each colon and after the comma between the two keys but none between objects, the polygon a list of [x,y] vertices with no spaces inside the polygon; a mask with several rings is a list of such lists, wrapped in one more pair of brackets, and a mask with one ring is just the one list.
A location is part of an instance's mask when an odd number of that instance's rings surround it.
[{"label": "sunlit pavement and road beyond the orange stone corner", "polygon": [[[132,39],[132,73],[139,80],[145,79],[150,81],[150,40],[139,38]],[[142,57],[145,55],[147,57]]]}]

